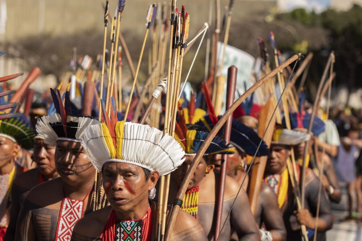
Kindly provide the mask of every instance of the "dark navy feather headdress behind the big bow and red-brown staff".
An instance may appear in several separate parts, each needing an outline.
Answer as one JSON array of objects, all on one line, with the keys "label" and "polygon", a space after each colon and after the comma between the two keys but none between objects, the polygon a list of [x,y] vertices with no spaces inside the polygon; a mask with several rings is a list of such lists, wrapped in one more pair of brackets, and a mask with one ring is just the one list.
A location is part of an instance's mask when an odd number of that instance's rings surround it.
[{"label": "dark navy feather headdress behind the big bow and red-brown staff", "polygon": [[[221,116],[219,116],[220,119]],[[201,126],[209,131],[214,128],[214,124],[212,124],[209,115],[204,116],[201,118],[196,125]],[[222,135],[224,128],[222,127],[219,131],[219,135]],[[257,147],[261,141],[261,138],[258,136],[253,129],[249,128],[248,126],[244,125],[240,121],[235,119],[232,120],[231,126],[231,137],[230,143],[234,145],[237,149],[245,152],[246,154],[253,156],[257,150]],[[263,141],[261,146],[258,150],[256,156],[267,156],[269,155],[268,146]]]}]

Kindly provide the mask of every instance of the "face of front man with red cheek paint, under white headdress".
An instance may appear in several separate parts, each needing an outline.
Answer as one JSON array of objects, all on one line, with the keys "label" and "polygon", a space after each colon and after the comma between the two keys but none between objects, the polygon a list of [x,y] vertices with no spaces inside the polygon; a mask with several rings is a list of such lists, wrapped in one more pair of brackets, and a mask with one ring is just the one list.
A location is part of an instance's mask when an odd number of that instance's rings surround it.
[{"label": "face of front man with red cheek paint, under white headdress", "polygon": [[134,210],[139,203],[148,200],[148,192],[159,177],[159,173],[153,171],[146,179],[142,167],[119,162],[105,163],[102,175],[107,199],[116,212]]}]

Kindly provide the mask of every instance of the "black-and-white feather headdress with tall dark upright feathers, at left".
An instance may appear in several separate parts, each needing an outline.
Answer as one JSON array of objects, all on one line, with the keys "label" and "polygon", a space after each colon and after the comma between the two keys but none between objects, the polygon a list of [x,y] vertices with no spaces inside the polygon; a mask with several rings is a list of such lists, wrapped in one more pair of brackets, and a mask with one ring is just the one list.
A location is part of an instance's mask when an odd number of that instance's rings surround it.
[{"label": "black-and-white feather headdress with tall dark upright feathers, at left", "polygon": [[50,145],[56,145],[58,140],[80,142],[84,129],[89,125],[99,123],[89,117],[72,116],[70,94],[64,96],[64,105],[59,90],[50,89],[53,98],[55,114],[43,116],[38,120],[36,129],[38,134]]}]

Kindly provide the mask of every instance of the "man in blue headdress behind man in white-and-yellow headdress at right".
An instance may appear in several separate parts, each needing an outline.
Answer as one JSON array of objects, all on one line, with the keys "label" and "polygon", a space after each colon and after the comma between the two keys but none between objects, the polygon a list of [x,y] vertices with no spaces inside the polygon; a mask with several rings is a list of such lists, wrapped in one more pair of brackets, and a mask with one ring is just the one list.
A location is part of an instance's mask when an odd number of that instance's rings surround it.
[{"label": "man in blue headdress behind man in white-and-yellow headdress at right", "polygon": [[[299,115],[299,113],[302,113]],[[290,125],[291,128],[294,130],[298,130],[300,132],[307,133],[307,128],[309,125],[310,120],[310,113],[306,113],[303,111],[300,111],[299,113],[290,113]],[[324,122],[319,119],[318,117],[314,117],[313,125],[312,125],[312,140],[316,141],[318,138],[317,136],[325,132],[325,124]],[[329,132],[329,130],[328,130]],[[310,145],[313,145],[313,141],[310,141]],[[314,145],[318,145],[314,142]],[[303,162],[303,155],[304,155],[304,147],[305,142],[301,142],[298,145],[294,146],[294,154],[295,159],[297,160],[298,164],[302,165]],[[312,148],[310,148],[312,150]],[[323,187],[326,190],[328,197],[333,202],[340,202],[341,201],[341,189],[338,184],[338,179],[336,172],[334,171],[334,167],[331,161],[331,158],[326,153],[322,153],[321,151],[317,151],[316,158],[313,158],[313,162],[310,162],[310,164],[313,166],[313,170],[315,171],[317,176],[320,176],[320,179],[322,181]],[[315,159],[315,161],[314,161]],[[324,162],[323,164],[323,173],[319,173],[321,162]],[[310,154],[307,155],[307,166],[310,161]]]}]

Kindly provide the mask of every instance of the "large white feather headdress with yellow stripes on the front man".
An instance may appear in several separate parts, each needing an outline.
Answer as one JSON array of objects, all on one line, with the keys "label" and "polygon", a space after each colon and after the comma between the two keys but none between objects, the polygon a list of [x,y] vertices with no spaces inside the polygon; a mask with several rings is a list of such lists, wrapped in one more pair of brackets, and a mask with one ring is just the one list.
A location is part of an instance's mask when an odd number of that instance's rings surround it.
[{"label": "large white feather headdress with yellow stripes on the front man", "polygon": [[134,164],[166,175],[180,166],[185,152],[171,136],[149,125],[118,121],[85,129],[81,143],[98,171],[106,162]]}]

